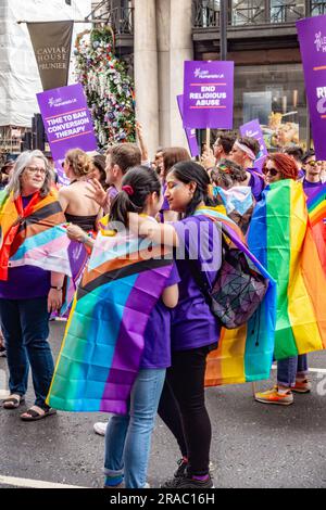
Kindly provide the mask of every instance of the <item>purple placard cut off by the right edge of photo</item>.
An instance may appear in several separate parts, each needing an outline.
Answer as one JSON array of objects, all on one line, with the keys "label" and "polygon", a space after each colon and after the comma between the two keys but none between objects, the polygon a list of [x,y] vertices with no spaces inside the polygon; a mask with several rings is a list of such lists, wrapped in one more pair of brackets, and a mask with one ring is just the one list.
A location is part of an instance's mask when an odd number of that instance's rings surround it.
[{"label": "purple placard cut off by the right edge of photo", "polygon": [[326,160],[326,16],[297,22],[317,160]]}]

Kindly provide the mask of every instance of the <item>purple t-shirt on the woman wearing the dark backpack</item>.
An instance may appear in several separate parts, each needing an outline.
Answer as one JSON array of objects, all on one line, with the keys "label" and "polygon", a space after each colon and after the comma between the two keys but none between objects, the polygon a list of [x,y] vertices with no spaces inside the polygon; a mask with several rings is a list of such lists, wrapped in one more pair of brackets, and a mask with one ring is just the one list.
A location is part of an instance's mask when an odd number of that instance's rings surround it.
[{"label": "purple t-shirt on the woman wearing the dark backpack", "polygon": [[187,258],[198,264],[198,270],[212,286],[222,263],[222,241],[216,226],[205,216],[190,216],[173,227],[179,240],[176,265],[181,281],[179,302],[172,310],[172,350],[187,350],[217,342],[221,331]]}]

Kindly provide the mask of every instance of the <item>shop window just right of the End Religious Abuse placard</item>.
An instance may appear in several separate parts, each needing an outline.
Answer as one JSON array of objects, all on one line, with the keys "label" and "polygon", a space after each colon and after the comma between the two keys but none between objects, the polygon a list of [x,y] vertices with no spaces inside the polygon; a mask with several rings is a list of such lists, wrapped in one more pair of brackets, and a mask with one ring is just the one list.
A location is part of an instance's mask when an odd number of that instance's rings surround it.
[{"label": "shop window just right of the End Religious Abuse placard", "polygon": [[305,144],[306,103],[301,64],[235,67],[234,128],[259,118],[267,148]]}]

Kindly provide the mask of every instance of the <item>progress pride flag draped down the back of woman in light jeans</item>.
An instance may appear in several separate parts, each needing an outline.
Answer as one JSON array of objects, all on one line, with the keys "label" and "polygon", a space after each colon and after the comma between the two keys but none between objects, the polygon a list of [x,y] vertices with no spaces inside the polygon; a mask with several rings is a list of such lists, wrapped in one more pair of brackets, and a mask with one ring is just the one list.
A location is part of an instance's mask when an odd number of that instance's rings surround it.
[{"label": "progress pride flag draped down the back of woman in light jeans", "polygon": [[149,316],[172,270],[161,246],[98,233],[74,299],[48,404],[65,411],[127,412]]}]

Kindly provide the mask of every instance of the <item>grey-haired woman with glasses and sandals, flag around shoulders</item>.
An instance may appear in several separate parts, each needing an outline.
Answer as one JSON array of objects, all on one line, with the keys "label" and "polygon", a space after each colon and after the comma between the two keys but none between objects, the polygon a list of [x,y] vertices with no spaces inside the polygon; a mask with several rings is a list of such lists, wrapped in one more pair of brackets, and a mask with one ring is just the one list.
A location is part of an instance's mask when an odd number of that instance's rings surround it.
[{"label": "grey-haired woman with glasses and sandals, flag around shoulders", "polygon": [[55,412],[46,404],[54,369],[48,321],[51,311],[62,304],[64,277],[36,264],[10,267],[10,258],[28,229],[35,231],[39,221],[59,225],[64,220],[57,191],[51,189],[47,158],[40,151],[23,152],[0,196],[0,326],[11,393],[3,401],[4,409],[16,409],[24,403],[29,365],[32,368],[36,398],[35,405],[21,416],[24,421],[40,420]]}]

